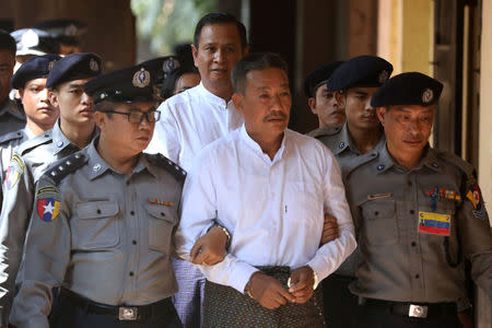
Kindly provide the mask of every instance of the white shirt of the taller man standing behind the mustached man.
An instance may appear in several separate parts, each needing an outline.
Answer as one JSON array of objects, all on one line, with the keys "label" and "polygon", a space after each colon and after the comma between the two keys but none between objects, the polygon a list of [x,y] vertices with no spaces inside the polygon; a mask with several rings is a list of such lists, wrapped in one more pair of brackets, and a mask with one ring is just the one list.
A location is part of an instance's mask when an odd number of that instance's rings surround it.
[{"label": "white shirt of the taller man standing behind the mustached man", "polygon": [[145,152],[162,153],[185,171],[191,168],[200,150],[244,121],[231,101],[214,95],[202,83],[166,99],[157,110],[161,119]]}]

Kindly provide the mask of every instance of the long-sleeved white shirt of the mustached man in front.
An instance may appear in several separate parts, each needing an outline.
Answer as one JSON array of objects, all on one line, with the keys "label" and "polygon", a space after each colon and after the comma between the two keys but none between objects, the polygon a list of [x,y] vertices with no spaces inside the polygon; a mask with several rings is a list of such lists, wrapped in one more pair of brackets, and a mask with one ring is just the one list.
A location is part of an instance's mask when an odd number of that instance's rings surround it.
[{"label": "long-sleeved white shirt of the mustached man in front", "polygon": [[[178,255],[188,258],[212,220],[232,234],[225,259],[201,267],[207,279],[244,292],[254,266],[308,265],[321,280],[356,246],[337,161],[314,138],[285,130],[273,161],[245,127],[198,154],[184,188]],[[319,247],[324,210],[340,237]]]}]

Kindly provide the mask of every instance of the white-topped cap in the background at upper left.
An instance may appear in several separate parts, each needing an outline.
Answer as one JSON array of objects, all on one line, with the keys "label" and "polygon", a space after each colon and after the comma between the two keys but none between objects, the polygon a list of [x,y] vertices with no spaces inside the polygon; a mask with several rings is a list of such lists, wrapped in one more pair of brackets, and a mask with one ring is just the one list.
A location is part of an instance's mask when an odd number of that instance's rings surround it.
[{"label": "white-topped cap in the background at upper left", "polygon": [[10,35],[15,39],[17,50],[15,56],[42,56],[58,54],[59,45],[48,33],[37,28],[21,28]]}]

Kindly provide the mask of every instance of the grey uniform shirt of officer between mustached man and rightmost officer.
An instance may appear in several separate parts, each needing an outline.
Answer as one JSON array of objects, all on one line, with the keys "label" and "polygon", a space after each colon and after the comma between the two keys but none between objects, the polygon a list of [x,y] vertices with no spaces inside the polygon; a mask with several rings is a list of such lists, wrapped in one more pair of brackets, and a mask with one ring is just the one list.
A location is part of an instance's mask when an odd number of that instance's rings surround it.
[{"label": "grey uniform shirt of officer between mustached man and rightmost officer", "polygon": [[[386,137],[382,133],[379,142],[368,153],[362,154],[350,136],[347,122],[340,126],[326,127],[314,130],[309,134],[321,141],[335,155],[342,173],[343,183],[352,169],[370,162],[377,156],[386,142]],[[350,200],[349,200],[350,201]],[[358,235],[355,226],[355,236]],[[355,271],[360,263],[359,247],[347,258],[347,260],[336,271],[338,274],[355,277]]]}]

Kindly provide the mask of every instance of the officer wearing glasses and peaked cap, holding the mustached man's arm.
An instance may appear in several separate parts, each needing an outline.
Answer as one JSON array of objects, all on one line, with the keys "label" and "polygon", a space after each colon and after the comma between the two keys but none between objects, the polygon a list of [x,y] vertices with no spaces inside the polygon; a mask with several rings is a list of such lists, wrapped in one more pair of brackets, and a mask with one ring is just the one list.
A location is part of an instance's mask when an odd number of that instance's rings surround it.
[{"label": "officer wearing glasses and peaked cap, holding the mustached man's arm", "polygon": [[[39,179],[12,307],[17,327],[181,327],[169,255],[185,172],[141,153],[159,120],[138,66],[84,86],[101,134]],[[61,285],[59,308],[51,288]]]}]

